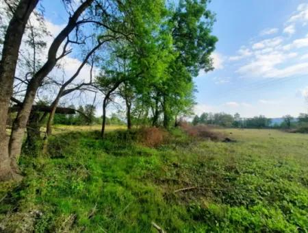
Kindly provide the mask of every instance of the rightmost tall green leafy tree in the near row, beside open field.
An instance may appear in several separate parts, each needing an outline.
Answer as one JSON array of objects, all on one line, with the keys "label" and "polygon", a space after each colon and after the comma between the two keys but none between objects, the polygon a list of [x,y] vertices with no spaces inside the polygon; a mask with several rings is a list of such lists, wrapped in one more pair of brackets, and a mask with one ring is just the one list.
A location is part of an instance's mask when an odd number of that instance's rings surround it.
[{"label": "rightmost tall green leafy tree in the near row, beside open field", "polygon": [[206,0],[179,1],[177,9],[171,10],[168,29],[172,36],[175,60],[170,62],[170,74],[162,91],[164,127],[168,127],[175,113],[172,111],[175,97],[181,99],[185,95],[192,95],[194,89],[185,88],[185,84],[190,85],[192,77],[197,76],[201,69],[205,72],[214,69],[210,56],[218,39],[211,35],[213,23],[214,15],[207,10]]}]

